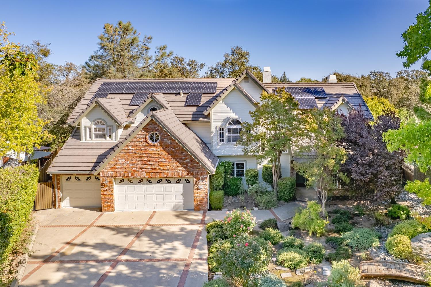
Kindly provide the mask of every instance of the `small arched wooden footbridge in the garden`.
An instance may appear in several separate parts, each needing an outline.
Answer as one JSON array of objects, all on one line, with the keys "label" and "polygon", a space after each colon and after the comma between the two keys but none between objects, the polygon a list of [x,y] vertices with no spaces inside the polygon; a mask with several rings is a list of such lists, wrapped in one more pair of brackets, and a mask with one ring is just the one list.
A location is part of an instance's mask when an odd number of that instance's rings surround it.
[{"label": "small arched wooden footbridge in the garden", "polygon": [[362,277],[380,277],[426,284],[425,268],[408,263],[371,260],[359,263]]}]

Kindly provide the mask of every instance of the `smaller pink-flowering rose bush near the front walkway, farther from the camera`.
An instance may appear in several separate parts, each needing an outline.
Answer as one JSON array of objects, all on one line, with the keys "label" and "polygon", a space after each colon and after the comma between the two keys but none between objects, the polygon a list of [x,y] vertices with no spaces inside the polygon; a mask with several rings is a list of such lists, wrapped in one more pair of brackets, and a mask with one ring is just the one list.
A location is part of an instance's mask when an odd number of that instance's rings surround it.
[{"label": "smaller pink-flowering rose bush near the front walkway, farther from the camera", "polygon": [[225,216],[223,223],[226,236],[234,238],[241,234],[249,234],[253,227],[256,226],[256,218],[251,214],[250,210],[242,212],[240,209],[234,209]]}]

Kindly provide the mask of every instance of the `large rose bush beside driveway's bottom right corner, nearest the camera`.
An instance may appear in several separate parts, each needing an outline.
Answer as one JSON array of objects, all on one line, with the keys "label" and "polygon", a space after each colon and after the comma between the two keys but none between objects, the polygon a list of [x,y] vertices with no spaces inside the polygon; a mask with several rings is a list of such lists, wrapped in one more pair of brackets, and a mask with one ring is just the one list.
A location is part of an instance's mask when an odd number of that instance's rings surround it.
[{"label": "large rose bush beside driveway's bottom right corner, nearest the camera", "polygon": [[252,275],[264,275],[271,256],[272,248],[267,241],[244,235],[234,240],[231,249],[217,251],[215,263],[234,284],[251,287],[255,282]]}]

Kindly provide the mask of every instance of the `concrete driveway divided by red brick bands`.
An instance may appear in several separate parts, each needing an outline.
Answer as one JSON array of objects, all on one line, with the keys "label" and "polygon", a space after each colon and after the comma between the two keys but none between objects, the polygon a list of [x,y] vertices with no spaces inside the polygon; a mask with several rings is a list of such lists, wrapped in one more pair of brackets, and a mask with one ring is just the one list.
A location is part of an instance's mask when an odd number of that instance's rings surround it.
[{"label": "concrete driveway divided by red brick bands", "polygon": [[39,230],[20,286],[195,287],[207,281],[206,212],[64,208],[34,218]]}]

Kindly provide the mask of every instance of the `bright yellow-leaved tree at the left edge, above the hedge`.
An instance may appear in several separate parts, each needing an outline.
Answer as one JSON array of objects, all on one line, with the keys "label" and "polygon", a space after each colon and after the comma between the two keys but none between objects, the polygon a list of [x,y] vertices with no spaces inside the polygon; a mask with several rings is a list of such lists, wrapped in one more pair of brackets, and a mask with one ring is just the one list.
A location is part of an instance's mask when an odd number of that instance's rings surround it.
[{"label": "bright yellow-leaved tree at the left edge, above the hedge", "polygon": [[[37,64],[34,58],[9,42],[6,26],[0,37],[0,154],[33,152],[46,133],[45,122],[37,117],[37,103],[43,103],[46,92],[37,83]],[[19,55],[19,56],[16,56]],[[25,59],[29,59],[28,61]],[[33,62],[34,61],[34,62]],[[30,62],[34,64],[29,65]]]}]

